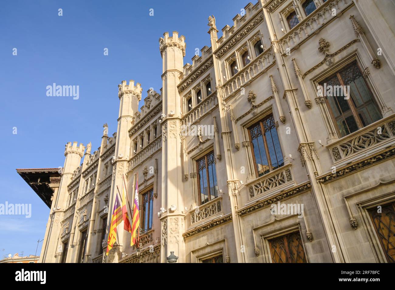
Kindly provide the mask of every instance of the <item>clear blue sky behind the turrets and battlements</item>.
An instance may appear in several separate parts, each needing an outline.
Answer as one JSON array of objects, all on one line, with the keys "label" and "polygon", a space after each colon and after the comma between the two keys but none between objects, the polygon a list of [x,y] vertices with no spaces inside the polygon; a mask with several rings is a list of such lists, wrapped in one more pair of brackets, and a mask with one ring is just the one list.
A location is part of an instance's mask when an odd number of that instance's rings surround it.
[{"label": "clear blue sky behind the turrets and battlements", "polygon": [[[110,134],[116,130],[122,80],[140,82],[143,98],[150,87],[160,91],[158,39],[164,32],[176,30],[186,37],[184,64],[191,63],[195,48],[211,46],[209,15],[216,17],[220,30],[226,24],[232,26],[232,18],[246,4],[236,0],[2,0],[0,204],[32,204],[32,216],[0,215],[0,258],[21,251],[34,254],[49,215],[49,208],[15,168],[63,166],[67,142],[92,142],[94,151],[100,146],[103,123],[108,123]],[[63,16],[58,16],[59,8]],[[108,56],[103,55],[104,48]],[[54,82],[78,85],[79,99],[48,97],[46,87]]]}]

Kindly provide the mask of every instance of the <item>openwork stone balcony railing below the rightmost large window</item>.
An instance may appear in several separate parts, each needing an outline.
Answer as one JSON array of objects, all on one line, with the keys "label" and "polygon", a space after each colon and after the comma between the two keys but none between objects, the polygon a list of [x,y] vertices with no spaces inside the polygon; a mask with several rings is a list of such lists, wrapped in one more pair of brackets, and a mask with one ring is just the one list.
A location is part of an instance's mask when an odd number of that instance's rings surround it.
[{"label": "openwork stone balcony railing below the rightmost large window", "polygon": [[329,144],[333,161],[341,163],[346,159],[353,159],[366,152],[377,150],[389,143],[395,143],[395,116],[372,123],[350,135]]}]

